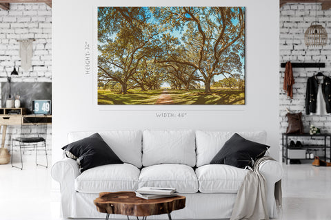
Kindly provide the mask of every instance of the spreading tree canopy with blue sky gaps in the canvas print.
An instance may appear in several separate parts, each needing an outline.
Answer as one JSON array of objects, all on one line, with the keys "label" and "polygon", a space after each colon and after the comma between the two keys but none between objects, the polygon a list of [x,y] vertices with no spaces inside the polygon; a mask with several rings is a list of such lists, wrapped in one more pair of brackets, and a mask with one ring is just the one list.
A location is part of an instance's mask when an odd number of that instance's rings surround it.
[{"label": "spreading tree canopy with blue sky gaps in the canvas print", "polygon": [[243,8],[99,8],[99,80],[120,83],[123,94],[129,81],[143,91],[203,81],[210,92],[214,76],[242,74],[244,31]]}]

